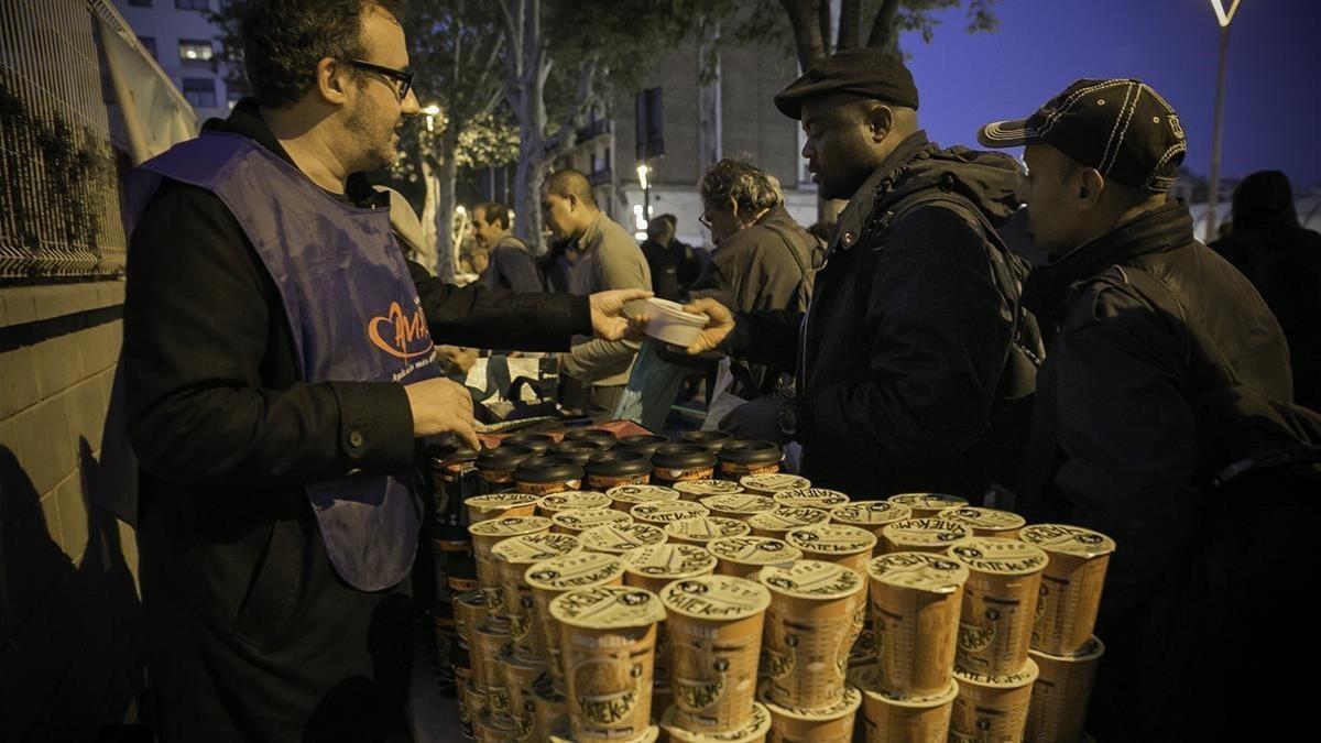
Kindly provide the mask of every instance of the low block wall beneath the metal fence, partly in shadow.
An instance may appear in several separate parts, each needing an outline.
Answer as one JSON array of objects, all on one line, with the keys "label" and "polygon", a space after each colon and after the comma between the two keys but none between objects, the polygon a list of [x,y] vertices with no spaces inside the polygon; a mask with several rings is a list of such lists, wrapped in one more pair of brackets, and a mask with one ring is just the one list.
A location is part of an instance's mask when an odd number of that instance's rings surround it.
[{"label": "low block wall beneath the metal fence, partly in shadow", "polygon": [[123,282],[0,288],[0,738],[135,714],[137,551],[104,509]]}]

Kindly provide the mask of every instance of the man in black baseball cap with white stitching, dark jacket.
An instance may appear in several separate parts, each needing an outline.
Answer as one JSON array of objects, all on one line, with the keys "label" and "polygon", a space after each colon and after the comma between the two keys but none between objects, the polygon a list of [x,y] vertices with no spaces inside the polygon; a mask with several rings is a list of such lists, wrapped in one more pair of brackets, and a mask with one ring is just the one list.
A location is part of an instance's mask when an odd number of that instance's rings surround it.
[{"label": "man in black baseball cap with white stitching, dark jacket", "polygon": [[1166,196],[1186,140],[1151,86],[1081,79],[978,139],[1026,147],[1029,231],[1052,255],[1022,293],[1058,332],[1037,378],[1018,508],[1118,545],[1096,625],[1106,656],[1090,731],[1226,739],[1247,711],[1232,698],[1243,693],[1235,681],[1259,681],[1217,672],[1258,650],[1252,628],[1217,636],[1219,620],[1223,604],[1266,576],[1214,575],[1199,558],[1213,538],[1209,509],[1230,504],[1207,490],[1194,394],[1221,383],[1207,378],[1207,360],[1219,360],[1244,387],[1292,399],[1280,327]]}]

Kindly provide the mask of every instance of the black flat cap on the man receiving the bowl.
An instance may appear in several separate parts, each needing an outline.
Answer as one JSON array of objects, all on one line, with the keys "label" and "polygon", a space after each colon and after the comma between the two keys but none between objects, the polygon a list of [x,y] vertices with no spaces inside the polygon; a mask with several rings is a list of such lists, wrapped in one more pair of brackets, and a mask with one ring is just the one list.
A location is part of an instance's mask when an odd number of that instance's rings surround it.
[{"label": "black flat cap on the man receiving the bowl", "polygon": [[816,62],[775,95],[775,108],[801,119],[803,100],[840,93],[917,110],[917,86],[904,59],[869,48],[844,49]]}]

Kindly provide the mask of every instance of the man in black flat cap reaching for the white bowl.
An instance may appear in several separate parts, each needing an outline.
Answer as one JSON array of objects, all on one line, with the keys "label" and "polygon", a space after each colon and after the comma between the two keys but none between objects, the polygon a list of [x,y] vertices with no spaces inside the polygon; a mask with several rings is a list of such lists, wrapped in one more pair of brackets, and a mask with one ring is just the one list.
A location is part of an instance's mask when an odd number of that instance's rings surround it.
[{"label": "man in black flat cap reaching for the white bowl", "polygon": [[798,369],[794,398],[740,406],[725,428],[801,442],[812,483],[857,500],[980,497],[1016,467],[1015,447],[988,442],[1015,440],[1011,401],[1030,393],[1040,352],[1016,303],[1025,267],[995,231],[1018,208],[1016,163],[927,141],[913,75],[877,49],[828,57],[775,106],[802,120],[822,197],[849,202],[806,321],[690,305],[712,319],[690,350]]}]

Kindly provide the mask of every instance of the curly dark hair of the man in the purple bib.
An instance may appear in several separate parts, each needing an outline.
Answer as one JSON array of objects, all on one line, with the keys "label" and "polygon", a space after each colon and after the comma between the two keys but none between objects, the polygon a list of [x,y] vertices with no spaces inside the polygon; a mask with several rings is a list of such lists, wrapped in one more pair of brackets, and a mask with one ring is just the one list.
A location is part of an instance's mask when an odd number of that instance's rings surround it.
[{"label": "curly dark hair of the man in the purple bib", "polygon": [[248,0],[240,33],[252,95],[283,108],[312,90],[321,59],[363,57],[362,17],[371,7],[404,17],[403,0]]}]

